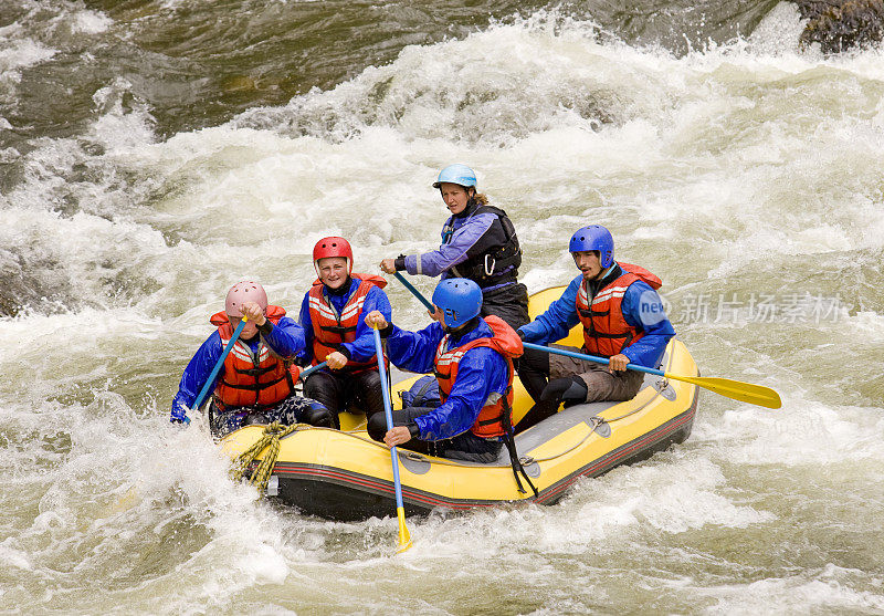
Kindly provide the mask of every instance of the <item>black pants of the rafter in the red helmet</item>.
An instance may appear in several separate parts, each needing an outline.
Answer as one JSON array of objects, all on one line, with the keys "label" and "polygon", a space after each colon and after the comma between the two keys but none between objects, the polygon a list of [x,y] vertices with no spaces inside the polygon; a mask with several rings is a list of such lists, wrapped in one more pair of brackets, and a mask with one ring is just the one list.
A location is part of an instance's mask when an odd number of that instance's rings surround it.
[{"label": "black pants of the rafter in the red helmet", "polygon": [[318,400],[332,410],[335,427],[340,429],[338,413],[354,406],[371,418],[383,416],[383,394],[380,388],[380,373],[377,368],[357,374],[347,372],[318,370],[307,377],[304,395]]}]

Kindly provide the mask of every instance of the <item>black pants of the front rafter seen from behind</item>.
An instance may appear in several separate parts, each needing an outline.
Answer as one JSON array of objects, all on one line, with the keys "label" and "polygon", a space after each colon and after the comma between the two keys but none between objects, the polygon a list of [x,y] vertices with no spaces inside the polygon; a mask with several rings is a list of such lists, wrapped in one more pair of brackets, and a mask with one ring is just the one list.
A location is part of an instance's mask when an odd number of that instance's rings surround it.
[{"label": "black pants of the front rafter seen from behind", "polygon": [[[412,406],[401,410],[393,410],[393,426],[406,426],[415,417],[427,415],[434,409],[429,407]],[[382,441],[387,434],[387,418],[383,414],[373,415],[368,420],[368,436],[375,440]],[[503,447],[499,438],[482,438],[475,436],[470,430],[456,437],[444,440],[420,440],[411,439],[400,446],[402,449],[410,449],[420,453],[438,456],[440,458],[451,458],[453,460],[466,460],[470,462],[491,463],[497,459]]]}]

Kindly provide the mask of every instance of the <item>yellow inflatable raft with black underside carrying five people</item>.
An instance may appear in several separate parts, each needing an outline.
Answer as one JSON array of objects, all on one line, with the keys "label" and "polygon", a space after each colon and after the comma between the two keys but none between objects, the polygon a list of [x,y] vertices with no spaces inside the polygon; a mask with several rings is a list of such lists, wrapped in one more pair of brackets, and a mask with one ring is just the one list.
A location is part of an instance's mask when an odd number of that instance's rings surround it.
[{"label": "yellow inflatable raft with black underside carrying five people", "polygon": [[[532,317],[562,290],[548,289],[533,295]],[[562,344],[580,346],[579,327]],[[698,376],[687,348],[676,340],[670,342],[661,369]],[[397,393],[413,380],[392,387],[394,406],[400,399]],[[517,421],[530,408],[532,400],[518,382],[515,388]],[[527,486],[526,492],[519,492],[505,447],[499,458],[487,464],[399,448],[406,513],[425,514],[435,508],[467,510],[514,501],[552,504],[581,477],[598,477],[683,442],[691,434],[697,393],[696,385],[648,375],[631,400],[576,405],[517,435],[516,449],[537,488],[536,497]],[[335,520],[392,515],[396,501],[390,450],[368,437],[362,415],[341,413],[340,418],[340,431],[298,426],[280,440],[267,495],[303,513]],[[263,426],[248,426],[224,437],[222,445],[235,457],[263,434]],[[525,484],[524,479],[522,482]]]}]

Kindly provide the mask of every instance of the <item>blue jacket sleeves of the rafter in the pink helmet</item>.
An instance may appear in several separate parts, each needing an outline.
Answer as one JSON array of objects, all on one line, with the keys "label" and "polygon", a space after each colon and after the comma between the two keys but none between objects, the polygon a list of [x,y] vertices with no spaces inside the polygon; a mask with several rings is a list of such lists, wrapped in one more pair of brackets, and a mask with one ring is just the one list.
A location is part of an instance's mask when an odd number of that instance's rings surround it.
[{"label": "blue jacket sleeves of the rafter in the pink helmet", "polygon": [[[253,337],[251,341],[242,342],[245,343],[254,354],[257,353],[261,340],[263,340],[264,344],[266,344],[276,355],[285,359],[292,358],[301,353],[306,344],[304,338],[304,330],[295,322],[295,320],[287,316],[280,319],[280,322],[273,326],[273,330],[271,330],[270,334],[260,334]],[[172,399],[172,409],[176,407],[180,408],[181,406],[188,409],[191,407],[200,390],[202,390],[206,379],[209,378],[209,375],[212,373],[212,369],[218,363],[218,359],[221,357],[221,353],[223,351],[224,345],[221,343],[221,335],[218,333],[218,331],[215,331],[206,340],[206,342],[202,343],[202,345],[200,345],[196,355],[193,355],[185,368],[185,374],[181,375],[181,382],[178,384],[178,393]],[[218,386],[218,382],[223,375],[224,368],[222,367],[218,372],[218,376],[209,389],[210,393],[214,391],[214,388]],[[207,396],[207,399],[208,398],[209,396]]]}]

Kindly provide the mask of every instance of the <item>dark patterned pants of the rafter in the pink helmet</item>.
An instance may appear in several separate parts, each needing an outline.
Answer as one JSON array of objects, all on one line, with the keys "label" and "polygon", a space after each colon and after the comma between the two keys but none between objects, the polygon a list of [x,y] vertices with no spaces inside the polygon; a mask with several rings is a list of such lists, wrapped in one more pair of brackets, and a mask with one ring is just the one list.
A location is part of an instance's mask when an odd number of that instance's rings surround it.
[{"label": "dark patterned pants of the rafter in the pink helmet", "polygon": [[233,407],[220,410],[214,400],[209,408],[209,428],[217,437],[222,437],[243,426],[253,424],[272,424],[278,421],[285,426],[292,424],[309,424],[330,428],[332,414],[326,407],[311,398],[302,398],[292,394],[278,404],[264,409],[254,407]]}]

